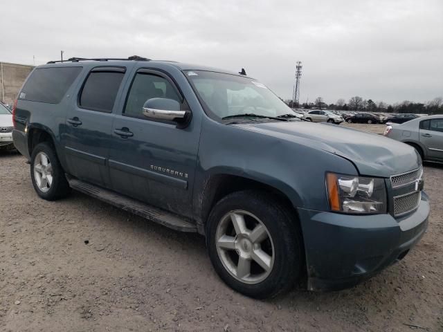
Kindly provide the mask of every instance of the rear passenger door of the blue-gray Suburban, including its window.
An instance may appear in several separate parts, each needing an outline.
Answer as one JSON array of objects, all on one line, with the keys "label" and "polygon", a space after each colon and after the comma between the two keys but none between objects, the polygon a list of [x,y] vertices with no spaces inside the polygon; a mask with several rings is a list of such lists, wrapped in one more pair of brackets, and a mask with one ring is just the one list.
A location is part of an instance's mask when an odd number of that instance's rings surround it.
[{"label": "rear passenger door of the blue-gray Suburban, including its window", "polygon": [[82,82],[77,98],[66,112],[61,129],[69,173],[81,180],[109,187],[107,157],[111,145],[116,96],[125,67],[98,66]]}]

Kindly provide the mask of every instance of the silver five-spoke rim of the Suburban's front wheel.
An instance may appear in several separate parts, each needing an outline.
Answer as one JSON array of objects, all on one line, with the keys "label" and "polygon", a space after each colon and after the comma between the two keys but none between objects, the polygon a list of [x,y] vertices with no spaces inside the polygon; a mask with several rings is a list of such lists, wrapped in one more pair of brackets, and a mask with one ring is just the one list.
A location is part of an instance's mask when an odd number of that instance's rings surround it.
[{"label": "silver five-spoke rim of the Suburban's front wheel", "polygon": [[253,214],[226,214],[215,234],[217,254],[224,268],[239,282],[258,284],[272,271],[275,250],[269,230]]}]

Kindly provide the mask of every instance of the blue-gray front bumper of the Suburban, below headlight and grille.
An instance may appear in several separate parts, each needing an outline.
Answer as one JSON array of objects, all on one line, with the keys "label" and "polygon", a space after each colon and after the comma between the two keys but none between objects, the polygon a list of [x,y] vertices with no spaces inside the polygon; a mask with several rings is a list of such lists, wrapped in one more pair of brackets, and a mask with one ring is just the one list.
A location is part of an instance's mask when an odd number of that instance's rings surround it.
[{"label": "blue-gray front bumper of the Suburban, below headlight and grille", "polygon": [[308,289],[354,286],[402,259],[428,226],[428,196],[415,212],[356,216],[298,209],[305,241]]}]

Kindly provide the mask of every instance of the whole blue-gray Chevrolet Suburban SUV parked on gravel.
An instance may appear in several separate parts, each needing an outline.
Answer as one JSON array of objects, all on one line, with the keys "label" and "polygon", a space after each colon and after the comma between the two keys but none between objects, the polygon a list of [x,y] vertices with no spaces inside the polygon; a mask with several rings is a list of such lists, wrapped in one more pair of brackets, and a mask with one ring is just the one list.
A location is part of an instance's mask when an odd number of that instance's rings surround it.
[{"label": "whole blue-gray Chevrolet Suburban SUV parked on gravel", "polygon": [[221,279],[251,297],[352,286],[402,259],[428,224],[413,147],[302,121],[244,70],[50,62],[13,120],[42,199],[72,188],[199,232]]}]

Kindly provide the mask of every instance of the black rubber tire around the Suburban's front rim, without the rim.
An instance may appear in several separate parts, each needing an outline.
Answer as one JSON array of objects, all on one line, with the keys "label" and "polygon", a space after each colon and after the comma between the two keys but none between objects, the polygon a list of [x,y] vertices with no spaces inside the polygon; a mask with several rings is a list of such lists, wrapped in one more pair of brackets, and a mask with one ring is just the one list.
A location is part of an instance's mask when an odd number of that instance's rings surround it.
[{"label": "black rubber tire around the Suburban's front rim, without the rim", "polygon": [[[235,210],[257,216],[273,239],[273,266],[266,279],[257,284],[247,284],[231,275],[217,253],[217,226],[226,214]],[[269,195],[252,190],[229,194],[215,205],[206,225],[206,245],[219,277],[235,291],[256,299],[275,297],[293,288],[304,266],[301,232],[296,216]]]}]

